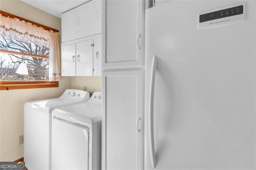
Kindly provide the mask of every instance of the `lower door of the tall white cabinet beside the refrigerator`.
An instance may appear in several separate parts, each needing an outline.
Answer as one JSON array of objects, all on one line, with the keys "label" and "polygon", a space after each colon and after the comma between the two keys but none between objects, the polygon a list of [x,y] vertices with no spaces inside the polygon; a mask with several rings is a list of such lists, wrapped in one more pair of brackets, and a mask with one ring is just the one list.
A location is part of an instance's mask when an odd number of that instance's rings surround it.
[{"label": "lower door of the tall white cabinet beside the refrigerator", "polygon": [[143,70],[102,76],[102,169],[143,169]]}]

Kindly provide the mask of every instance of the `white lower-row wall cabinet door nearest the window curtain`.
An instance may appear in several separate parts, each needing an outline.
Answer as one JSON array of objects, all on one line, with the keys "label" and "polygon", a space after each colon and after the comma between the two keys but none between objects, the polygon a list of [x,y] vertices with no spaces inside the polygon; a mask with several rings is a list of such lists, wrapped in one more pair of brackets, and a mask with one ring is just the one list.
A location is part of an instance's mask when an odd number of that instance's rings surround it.
[{"label": "white lower-row wall cabinet door nearest the window curtain", "polygon": [[61,45],[62,76],[76,75],[76,43]]}]

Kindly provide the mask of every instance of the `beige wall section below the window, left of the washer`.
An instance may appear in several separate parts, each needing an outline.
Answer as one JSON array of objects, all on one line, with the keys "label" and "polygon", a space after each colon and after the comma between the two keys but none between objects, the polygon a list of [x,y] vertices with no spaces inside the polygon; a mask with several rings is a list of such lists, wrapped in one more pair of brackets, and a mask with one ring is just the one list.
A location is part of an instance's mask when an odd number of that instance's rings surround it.
[{"label": "beige wall section below the window, left of the washer", "polygon": [[62,78],[58,88],[0,91],[0,161],[14,161],[23,157],[23,106],[27,101],[59,97],[71,87],[70,77]]}]

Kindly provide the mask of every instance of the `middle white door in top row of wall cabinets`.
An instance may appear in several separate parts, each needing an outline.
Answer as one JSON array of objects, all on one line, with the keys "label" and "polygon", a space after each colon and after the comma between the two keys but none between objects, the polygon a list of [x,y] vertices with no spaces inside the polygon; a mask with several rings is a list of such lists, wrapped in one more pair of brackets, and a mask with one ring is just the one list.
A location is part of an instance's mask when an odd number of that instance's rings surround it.
[{"label": "middle white door in top row of wall cabinets", "polygon": [[94,35],[94,0],[76,8],[76,38]]}]

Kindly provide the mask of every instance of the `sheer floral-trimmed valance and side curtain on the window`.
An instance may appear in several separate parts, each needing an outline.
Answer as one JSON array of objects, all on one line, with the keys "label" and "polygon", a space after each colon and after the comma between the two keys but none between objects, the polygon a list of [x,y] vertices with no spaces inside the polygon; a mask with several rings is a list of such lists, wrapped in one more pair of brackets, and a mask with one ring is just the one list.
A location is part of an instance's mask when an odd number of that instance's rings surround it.
[{"label": "sheer floral-trimmed valance and side curtain on the window", "polygon": [[50,47],[49,79],[50,81],[60,81],[60,43],[58,32],[44,30],[44,28],[32,25],[29,22],[5,17],[0,14],[0,35]]}]

